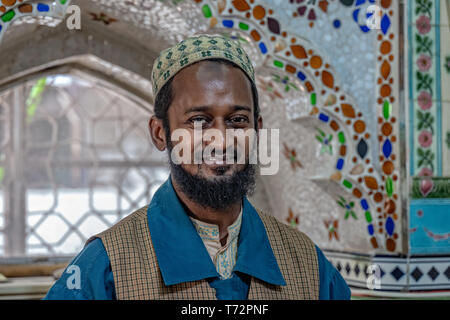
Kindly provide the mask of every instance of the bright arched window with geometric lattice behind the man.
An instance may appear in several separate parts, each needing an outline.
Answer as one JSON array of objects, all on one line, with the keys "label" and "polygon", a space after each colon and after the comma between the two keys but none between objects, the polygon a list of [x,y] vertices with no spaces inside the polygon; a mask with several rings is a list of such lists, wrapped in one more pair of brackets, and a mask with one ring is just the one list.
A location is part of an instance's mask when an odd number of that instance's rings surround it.
[{"label": "bright arched window with geometric lattice behind the man", "polygon": [[73,255],[168,177],[144,106],[92,77],[0,93],[0,254]]}]

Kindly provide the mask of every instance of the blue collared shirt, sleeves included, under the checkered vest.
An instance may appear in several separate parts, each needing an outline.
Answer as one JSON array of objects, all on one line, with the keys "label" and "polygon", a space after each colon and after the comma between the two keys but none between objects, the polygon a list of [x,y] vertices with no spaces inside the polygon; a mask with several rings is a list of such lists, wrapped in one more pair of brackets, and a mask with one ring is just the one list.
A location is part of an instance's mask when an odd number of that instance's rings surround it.
[{"label": "blue collared shirt, sleeves included, under the checkered vest", "polygon": [[[244,198],[238,256],[230,279],[219,274],[195,227],[187,216],[171,178],[158,189],[148,208],[152,244],[165,285],[207,279],[220,300],[247,299],[250,276],[274,285],[286,285],[264,225]],[[350,299],[350,289],[316,246],[319,299]],[[70,268],[76,266],[78,268]],[[78,272],[79,271],[79,272]],[[114,277],[101,239],[90,242],[71,261],[44,299],[115,299]]]}]

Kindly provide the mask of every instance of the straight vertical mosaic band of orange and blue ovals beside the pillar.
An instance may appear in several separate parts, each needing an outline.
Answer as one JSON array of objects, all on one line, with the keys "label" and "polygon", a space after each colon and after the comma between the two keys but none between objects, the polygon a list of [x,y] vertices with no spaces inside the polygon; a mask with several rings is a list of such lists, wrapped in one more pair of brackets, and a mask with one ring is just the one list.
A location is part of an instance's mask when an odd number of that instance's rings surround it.
[{"label": "straight vertical mosaic band of orange and blue ovals beside the pillar", "polygon": [[381,32],[378,33],[378,138],[380,143],[380,162],[383,183],[377,189],[377,201],[383,203],[383,209],[378,211],[378,218],[384,221],[379,231],[384,234],[384,247],[387,251],[401,250],[399,235],[395,232],[400,224],[401,203],[399,201],[399,159],[398,135],[399,129],[397,119],[399,116],[398,101],[396,95],[399,83],[398,77],[393,71],[398,68],[396,60],[397,44],[396,36],[399,29],[398,24],[392,21],[399,19],[397,10],[392,1],[379,2],[381,9]]}]

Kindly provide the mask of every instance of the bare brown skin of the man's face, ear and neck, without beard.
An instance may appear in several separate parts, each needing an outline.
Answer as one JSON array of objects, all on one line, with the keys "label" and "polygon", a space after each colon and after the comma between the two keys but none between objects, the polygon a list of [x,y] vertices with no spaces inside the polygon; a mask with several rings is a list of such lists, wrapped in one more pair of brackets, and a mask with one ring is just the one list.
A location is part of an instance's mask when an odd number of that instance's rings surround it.
[{"label": "bare brown skin of the man's face, ear and neck, without beard", "polygon": [[[203,132],[208,129],[217,129],[225,137],[226,129],[255,129],[262,128],[262,118],[254,119],[253,97],[251,85],[244,72],[233,66],[213,61],[201,61],[182,69],[172,82],[173,102],[168,109],[170,131],[183,128],[190,132],[191,141],[188,143],[191,149],[191,159],[194,159],[194,123],[201,124]],[[149,130],[152,141],[158,150],[167,148],[166,134],[163,122],[156,116],[149,121]],[[173,142],[174,145],[181,142]],[[214,141],[203,141],[202,147],[206,147]],[[235,139],[235,148],[237,148]],[[221,143],[223,154],[226,152],[225,143]],[[249,148],[245,148],[248,156]],[[221,175],[215,170],[218,166],[224,168]],[[199,174],[207,179],[223,179],[236,171],[242,170],[244,164],[186,164],[182,167],[190,174]],[[205,208],[188,198],[177,182],[172,178],[172,184],[178,198],[187,208],[188,214],[207,223],[219,227],[219,237],[222,245],[226,243],[228,226],[239,216],[241,202],[233,203],[224,211]]]}]

